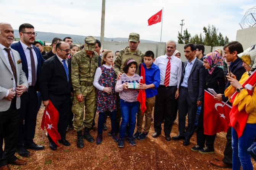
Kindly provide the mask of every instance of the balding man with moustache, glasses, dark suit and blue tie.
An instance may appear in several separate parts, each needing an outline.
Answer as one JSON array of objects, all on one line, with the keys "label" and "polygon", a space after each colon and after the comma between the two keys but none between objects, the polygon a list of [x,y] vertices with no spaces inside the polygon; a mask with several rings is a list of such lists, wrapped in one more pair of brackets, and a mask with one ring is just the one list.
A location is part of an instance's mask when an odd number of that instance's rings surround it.
[{"label": "balding man with moustache, glasses, dark suit and blue tie", "polygon": [[[60,41],[56,44],[56,54],[44,62],[41,73],[40,89],[43,105],[49,105],[49,100],[59,112],[58,132],[62,143],[70,146],[66,140],[66,129],[70,113],[71,84],[71,60],[68,59],[70,48],[68,43]],[[56,150],[57,146],[49,137],[50,148]]]}]

